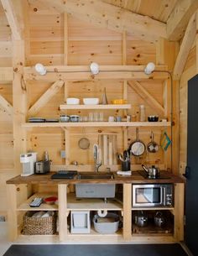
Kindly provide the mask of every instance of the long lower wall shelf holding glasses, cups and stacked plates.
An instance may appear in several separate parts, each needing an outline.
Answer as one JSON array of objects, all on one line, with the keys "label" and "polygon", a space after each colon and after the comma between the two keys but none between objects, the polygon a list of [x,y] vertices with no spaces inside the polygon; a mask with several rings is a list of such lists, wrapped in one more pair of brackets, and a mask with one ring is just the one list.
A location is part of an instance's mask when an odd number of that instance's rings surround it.
[{"label": "long lower wall shelf holding glasses, cups and stacked plates", "polygon": [[79,123],[23,123],[23,128],[44,127],[169,127],[170,122],[79,122]]}]

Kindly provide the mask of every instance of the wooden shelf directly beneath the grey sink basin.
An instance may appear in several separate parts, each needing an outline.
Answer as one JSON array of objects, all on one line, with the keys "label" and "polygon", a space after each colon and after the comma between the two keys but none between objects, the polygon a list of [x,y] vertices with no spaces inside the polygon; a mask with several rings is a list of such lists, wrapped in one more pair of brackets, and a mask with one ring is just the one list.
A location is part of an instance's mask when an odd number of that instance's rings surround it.
[{"label": "wooden shelf directly beneath the grey sink basin", "polygon": [[114,199],[108,199],[107,203],[100,198],[76,198],[74,193],[67,196],[67,209],[76,211],[122,211],[122,204]]}]

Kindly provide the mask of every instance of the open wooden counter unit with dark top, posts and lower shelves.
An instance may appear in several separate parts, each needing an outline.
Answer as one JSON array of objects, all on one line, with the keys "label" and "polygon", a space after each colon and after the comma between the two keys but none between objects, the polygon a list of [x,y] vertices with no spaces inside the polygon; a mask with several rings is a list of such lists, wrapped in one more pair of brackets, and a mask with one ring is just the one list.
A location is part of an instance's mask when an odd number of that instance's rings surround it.
[{"label": "open wooden counter unit with dark top, posts and lower shelves", "polygon": [[[184,238],[184,190],[185,182],[180,176],[161,171],[162,179],[145,179],[138,171],[132,175],[122,176],[113,173],[112,179],[51,179],[47,175],[18,175],[7,180],[8,188],[8,233],[10,241],[15,243],[175,243]],[[108,173],[109,174],[109,173]],[[122,191],[122,200],[115,198],[76,198],[76,184],[109,184],[116,186],[116,191]],[[174,206],[152,206],[134,208],[133,185],[137,184],[173,184]],[[45,198],[57,196],[58,203],[48,205],[42,203],[39,207],[30,207],[35,197]],[[24,235],[23,217],[26,212],[53,211],[58,217],[58,229],[53,235]],[[112,234],[96,232],[91,223],[89,233],[70,232],[70,216],[73,212],[89,212],[90,217],[97,211],[116,212],[122,223],[118,231]],[[163,212],[169,216],[167,227],[137,227],[134,223],[138,212],[153,216]],[[152,226],[153,225],[153,226]]]}]

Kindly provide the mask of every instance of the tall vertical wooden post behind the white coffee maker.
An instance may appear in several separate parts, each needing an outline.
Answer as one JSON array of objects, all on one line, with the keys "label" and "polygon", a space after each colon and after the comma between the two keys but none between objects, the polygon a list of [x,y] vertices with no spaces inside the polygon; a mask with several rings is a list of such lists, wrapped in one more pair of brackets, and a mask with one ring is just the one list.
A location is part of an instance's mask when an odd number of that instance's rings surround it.
[{"label": "tall vertical wooden post behind the white coffee maker", "polygon": [[13,162],[21,171],[19,155],[26,152],[26,131],[22,128],[27,113],[26,85],[23,81],[24,42],[13,41]]}]

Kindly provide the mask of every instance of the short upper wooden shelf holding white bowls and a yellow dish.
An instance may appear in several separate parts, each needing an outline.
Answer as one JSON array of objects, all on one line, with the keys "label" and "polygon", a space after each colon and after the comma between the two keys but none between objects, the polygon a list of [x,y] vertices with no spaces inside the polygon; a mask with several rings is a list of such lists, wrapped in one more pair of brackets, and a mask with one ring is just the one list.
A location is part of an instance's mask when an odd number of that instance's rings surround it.
[{"label": "short upper wooden shelf holding white bowls and a yellow dish", "polygon": [[108,105],[60,105],[60,110],[64,109],[130,109],[131,104],[108,104]]}]

